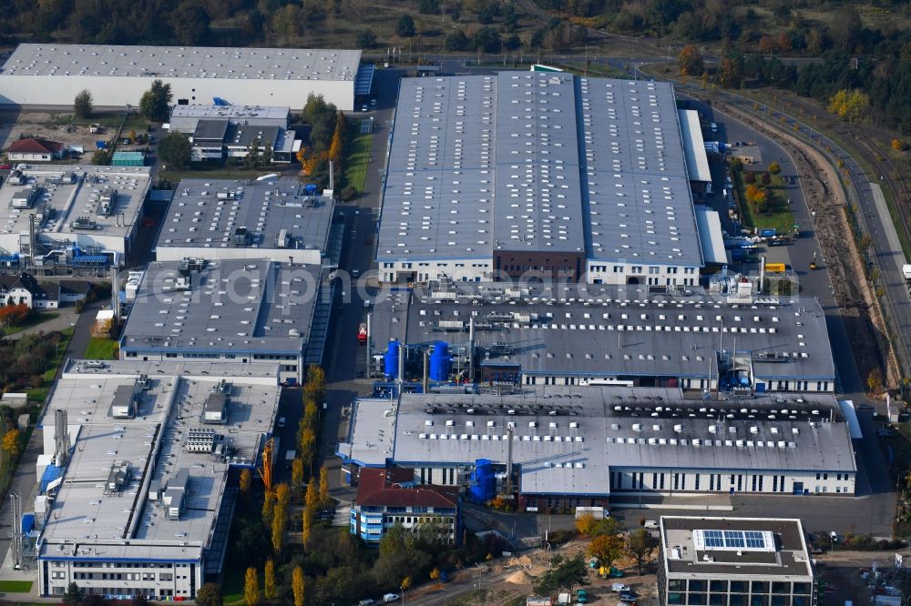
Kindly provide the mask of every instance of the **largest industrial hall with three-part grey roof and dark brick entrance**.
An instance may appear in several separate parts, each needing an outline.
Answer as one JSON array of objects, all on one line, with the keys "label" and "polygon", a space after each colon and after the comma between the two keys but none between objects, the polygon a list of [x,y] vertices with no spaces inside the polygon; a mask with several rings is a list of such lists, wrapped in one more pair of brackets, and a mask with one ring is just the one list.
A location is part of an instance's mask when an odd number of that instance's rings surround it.
[{"label": "largest industrial hall with three-part grey roof and dark brick entrance", "polygon": [[691,135],[667,83],[537,72],[404,79],[379,277],[694,286],[717,262],[706,250],[722,233],[697,227],[690,181],[700,171],[688,162],[704,149]]}]

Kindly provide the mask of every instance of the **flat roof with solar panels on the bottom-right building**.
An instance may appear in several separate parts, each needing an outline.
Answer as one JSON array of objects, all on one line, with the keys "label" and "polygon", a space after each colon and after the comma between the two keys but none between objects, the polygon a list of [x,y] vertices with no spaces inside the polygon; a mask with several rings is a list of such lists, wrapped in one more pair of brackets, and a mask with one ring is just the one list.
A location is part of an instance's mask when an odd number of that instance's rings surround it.
[{"label": "flat roof with solar panels on the bottom-right building", "polygon": [[660,540],[670,579],[813,579],[800,520],[662,516]]}]

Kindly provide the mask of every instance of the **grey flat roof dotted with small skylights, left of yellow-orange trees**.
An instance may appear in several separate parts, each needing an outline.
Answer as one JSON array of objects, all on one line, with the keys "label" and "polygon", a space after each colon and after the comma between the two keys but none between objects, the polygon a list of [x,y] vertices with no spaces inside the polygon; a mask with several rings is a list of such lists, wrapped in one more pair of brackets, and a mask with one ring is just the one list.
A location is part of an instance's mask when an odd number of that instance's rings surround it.
[{"label": "grey flat roof dotted with small skylights, left of yellow-orange trees", "polygon": [[[282,248],[277,237],[283,231],[289,237],[284,248],[325,252],[333,209],[332,198],[307,196],[304,184],[296,179],[183,179],[156,247],[237,247],[231,238],[234,229],[247,227],[252,233],[251,249],[274,253]],[[268,256],[265,250],[263,257]]]}]

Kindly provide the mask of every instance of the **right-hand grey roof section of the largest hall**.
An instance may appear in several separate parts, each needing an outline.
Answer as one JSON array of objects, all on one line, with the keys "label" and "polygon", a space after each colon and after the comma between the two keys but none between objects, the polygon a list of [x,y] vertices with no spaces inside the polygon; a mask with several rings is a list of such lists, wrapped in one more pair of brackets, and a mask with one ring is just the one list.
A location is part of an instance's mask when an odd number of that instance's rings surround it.
[{"label": "right-hand grey roof section of the largest hall", "polygon": [[698,267],[699,234],[673,86],[581,78],[590,257]]}]

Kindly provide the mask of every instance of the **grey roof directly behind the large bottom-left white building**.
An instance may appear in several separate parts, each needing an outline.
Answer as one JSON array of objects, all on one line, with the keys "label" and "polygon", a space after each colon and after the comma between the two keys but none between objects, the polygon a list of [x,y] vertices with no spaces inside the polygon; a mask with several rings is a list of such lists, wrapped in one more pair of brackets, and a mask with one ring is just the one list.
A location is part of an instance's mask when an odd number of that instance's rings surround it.
[{"label": "grey roof directly behind the large bottom-left white building", "polygon": [[149,263],[121,338],[124,352],[301,355],[321,268],[221,260],[175,288],[179,261]]}]

